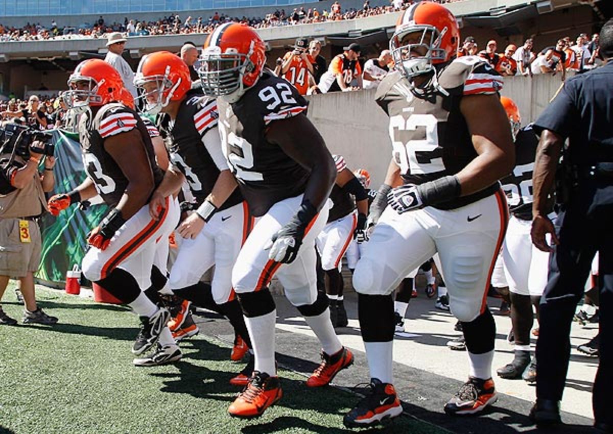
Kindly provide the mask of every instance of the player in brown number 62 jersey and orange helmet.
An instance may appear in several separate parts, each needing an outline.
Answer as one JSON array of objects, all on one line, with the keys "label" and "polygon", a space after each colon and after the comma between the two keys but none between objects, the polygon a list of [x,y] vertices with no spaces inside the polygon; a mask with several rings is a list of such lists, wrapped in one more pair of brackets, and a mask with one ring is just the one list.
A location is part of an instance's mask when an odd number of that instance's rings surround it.
[{"label": "player in brown number 62 jersey and orange helmet", "polygon": [[390,40],[395,71],[375,100],[390,118],[392,161],[370,207],[378,223],[353,275],[371,394],[346,414],[348,427],[402,413],[392,384],[392,293],[435,253],[470,364],[468,381],[444,409],[478,413],[497,399],[495,322],[485,297],[506,230],[498,180],[512,170],[514,148],[500,75],[476,56],[456,59],[459,41],[454,15],[430,1],[402,12]]}]

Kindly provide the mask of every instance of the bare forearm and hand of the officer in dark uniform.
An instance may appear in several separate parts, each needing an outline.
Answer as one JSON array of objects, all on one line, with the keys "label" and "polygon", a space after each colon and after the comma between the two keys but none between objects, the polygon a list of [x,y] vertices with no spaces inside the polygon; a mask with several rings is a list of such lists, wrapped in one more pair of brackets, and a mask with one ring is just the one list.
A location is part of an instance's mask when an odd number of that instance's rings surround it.
[{"label": "bare forearm and hand of the officer in dark uniform", "polygon": [[547,245],[546,234],[551,234],[552,243],[558,244],[554,224],[547,217],[547,196],[554,186],[555,168],[560,160],[563,144],[562,137],[553,131],[544,129],[538,148],[536,148],[535,169],[532,172],[532,242],[538,249],[546,252],[553,251]]}]

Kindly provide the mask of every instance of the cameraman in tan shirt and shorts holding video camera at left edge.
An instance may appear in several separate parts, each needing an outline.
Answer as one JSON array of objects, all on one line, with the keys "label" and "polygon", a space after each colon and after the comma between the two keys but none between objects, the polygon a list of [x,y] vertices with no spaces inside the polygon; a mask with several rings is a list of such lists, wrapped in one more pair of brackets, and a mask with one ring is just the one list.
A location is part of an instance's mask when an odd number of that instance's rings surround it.
[{"label": "cameraman in tan shirt and shorts holding video camera at left edge", "polygon": [[[0,300],[9,278],[18,278],[25,300],[24,324],[52,325],[58,319],[36,305],[34,272],[38,270],[42,240],[38,220],[47,211],[44,192],[55,179],[53,147],[37,139],[28,128],[7,124],[0,148]],[[14,140],[13,140],[14,138]],[[48,154],[45,156],[45,154]],[[39,173],[40,160],[45,161]],[[0,307],[0,324],[15,325]]]}]

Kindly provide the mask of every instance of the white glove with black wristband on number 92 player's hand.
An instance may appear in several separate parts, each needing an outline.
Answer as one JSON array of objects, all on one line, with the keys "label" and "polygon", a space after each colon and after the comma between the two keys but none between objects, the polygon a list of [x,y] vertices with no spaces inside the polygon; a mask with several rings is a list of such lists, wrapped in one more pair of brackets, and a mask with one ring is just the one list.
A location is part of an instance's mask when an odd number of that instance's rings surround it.
[{"label": "white glove with black wristband on number 92 player's hand", "polygon": [[293,262],[298,256],[305,230],[316,215],[316,208],[311,205],[311,202],[305,200],[296,215],[281,227],[264,247],[265,250],[270,249],[268,258],[283,264]]}]

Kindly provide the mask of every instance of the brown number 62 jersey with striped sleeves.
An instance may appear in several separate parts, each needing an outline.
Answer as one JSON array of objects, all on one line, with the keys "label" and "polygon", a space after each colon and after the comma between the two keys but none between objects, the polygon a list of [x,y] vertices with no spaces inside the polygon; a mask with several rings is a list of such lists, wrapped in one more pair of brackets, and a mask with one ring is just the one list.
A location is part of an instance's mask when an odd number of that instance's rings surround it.
[{"label": "brown number 62 jersey with striped sleeves", "polygon": [[[502,88],[502,78],[483,59],[463,56],[438,72],[438,84],[443,91],[420,94],[394,71],[377,88],[376,102],[389,116],[392,157],[406,184],[419,185],[455,175],[476,158],[460,101],[464,96],[497,93]],[[490,196],[499,187],[497,182],[435,207],[463,207]]]}]

